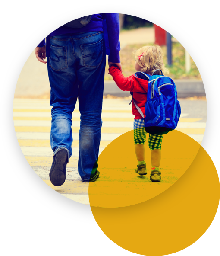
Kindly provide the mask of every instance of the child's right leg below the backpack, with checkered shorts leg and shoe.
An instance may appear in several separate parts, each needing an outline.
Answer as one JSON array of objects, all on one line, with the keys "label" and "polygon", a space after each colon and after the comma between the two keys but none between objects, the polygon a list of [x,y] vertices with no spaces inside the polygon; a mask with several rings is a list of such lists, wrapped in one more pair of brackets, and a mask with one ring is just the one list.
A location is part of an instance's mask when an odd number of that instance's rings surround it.
[{"label": "child's right leg below the backpack, with checkered shorts leg and shoe", "polygon": [[160,175],[160,160],[161,160],[161,144],[163,135],[149,134],[149,147],[151,149],[151,176],[150,179],[153,182],[159,182],[161,179]]}]

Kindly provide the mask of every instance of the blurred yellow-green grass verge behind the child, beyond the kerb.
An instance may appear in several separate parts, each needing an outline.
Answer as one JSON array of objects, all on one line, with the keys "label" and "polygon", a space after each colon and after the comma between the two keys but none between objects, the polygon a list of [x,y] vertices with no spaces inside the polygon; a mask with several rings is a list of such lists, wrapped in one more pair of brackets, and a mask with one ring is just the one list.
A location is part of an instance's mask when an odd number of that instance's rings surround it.
[{"label": "blurred yellow-green grass verge behind the child, beyond the kerb", "polygon": [[[154,45],[154,44],[150,44]],[[127,45],[120,51],[120,61],[122,64],[123,75],[125,77],[129,77],[134,74],[135,71],[135,58],[132,51],[141,48],[144,45]],[[167,46],[161,47],[164,53],[163,63],[169,70],[169,74],[165,74],[172,79],[198,79],[202,80],[201,74],[193,61],[191,59],[191,70],[186,73],[185,72],[185,48],[179,42],[172,43],[172,66],[169,67],[167,65]],[[108,74],[108,64],[106,65],[105,70],[105,80],[113,80],[112,76]]]}]

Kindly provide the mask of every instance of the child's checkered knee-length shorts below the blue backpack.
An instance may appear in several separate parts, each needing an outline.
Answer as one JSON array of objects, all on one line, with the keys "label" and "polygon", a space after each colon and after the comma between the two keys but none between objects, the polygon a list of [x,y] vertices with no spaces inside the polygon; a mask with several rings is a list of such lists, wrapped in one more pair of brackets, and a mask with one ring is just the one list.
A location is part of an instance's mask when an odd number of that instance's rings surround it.
[{"label": "child's checkered knee-length shorts below the blue backpack", "polygon": [[[146,141],[145,121],[144,119],[134,120],[134,141],[135,144],[145,144]],[[163,135],[149,134],[148,145],[151,150],[160,149]]]}]

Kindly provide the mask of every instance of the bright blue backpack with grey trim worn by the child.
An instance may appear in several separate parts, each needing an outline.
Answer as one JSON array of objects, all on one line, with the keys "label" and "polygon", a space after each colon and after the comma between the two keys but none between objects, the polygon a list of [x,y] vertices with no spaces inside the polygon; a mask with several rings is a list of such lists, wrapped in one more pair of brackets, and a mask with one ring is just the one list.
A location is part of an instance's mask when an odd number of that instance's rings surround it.
[{"label": "bright blue backpack with grey trim worn by the child", "polygon": [[143,72],[135,73],[137,77],[148,80],[145,118],[133,97],[132,100],[145,119],[145,131],[150,134],[162,135],[176,128],[181,108],[177,100],[176,85],[173,80],[170,77],[165,77],[161,70],[162,75],[154,75],[154,72],[152,76]]}]

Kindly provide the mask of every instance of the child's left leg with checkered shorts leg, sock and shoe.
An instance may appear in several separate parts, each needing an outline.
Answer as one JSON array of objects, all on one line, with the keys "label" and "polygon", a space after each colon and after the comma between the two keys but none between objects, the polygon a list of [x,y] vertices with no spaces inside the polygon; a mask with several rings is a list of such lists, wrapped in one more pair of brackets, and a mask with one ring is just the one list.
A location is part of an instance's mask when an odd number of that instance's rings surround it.
[{"label": "child's left leg with checkered shorts leg, sock and shoe", "polygon": [[135,141],[135,154],[138,160],[136,173],[139,175],[145,175],[146,172],[146,163],[145,163],[145,140],[146,140],[146,131],[145,131],[145,122],[144,119],[135,119],[134,120],[134,141]]}]

